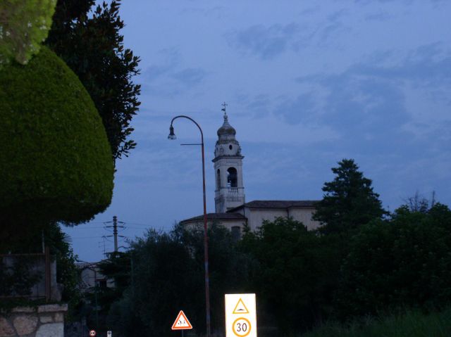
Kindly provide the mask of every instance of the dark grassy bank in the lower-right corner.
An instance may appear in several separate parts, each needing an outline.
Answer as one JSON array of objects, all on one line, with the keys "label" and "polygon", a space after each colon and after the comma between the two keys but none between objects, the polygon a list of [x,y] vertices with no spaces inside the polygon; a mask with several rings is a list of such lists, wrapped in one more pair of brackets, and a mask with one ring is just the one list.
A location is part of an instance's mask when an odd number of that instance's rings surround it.
[{"label": "dark grassy bank in the lower-right corner", "polygon": [[[409,310],[381,318],[367,318],[351,324],[327,323],[302,337],[449,337],[451,307],[423,314]],[[299,337],[301,337],[299,336]]]}]

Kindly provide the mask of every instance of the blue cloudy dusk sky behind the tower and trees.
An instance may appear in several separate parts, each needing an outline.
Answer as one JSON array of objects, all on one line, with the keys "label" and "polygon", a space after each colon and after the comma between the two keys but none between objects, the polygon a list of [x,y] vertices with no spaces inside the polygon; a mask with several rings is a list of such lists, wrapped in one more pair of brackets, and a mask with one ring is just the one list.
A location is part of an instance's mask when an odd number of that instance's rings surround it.
[{"label": "blue cloudy dusk sky behind the tower and trees", "polygon": [[390,211],[416,191],[451,205],[451,1],[127,0],[120,14],[142,60],[138,145],[117,163],[108,210],[65,229],[80,260],[103,258],[113,215],[133,239],[202,214],[200,148],[180,146],[199,130],[176,120],[168,141],[175,115],[204,130],[214,212],[223,101],[246,201],[319,200],[330,168],[354,158]]}]

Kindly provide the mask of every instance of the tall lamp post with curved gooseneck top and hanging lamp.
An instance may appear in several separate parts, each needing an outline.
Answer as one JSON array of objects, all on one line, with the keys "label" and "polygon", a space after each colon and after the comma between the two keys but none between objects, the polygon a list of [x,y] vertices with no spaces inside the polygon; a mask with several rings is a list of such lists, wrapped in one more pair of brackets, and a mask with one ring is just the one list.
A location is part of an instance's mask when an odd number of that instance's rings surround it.
[{"label": "tall lamp post with curved gooseneck top and hanging lamp", "polygon": [[169,127],[168,139],[174,140],[177,137],[174,134],[173,122],[177,118],[186,118],[193,122],[200,131],[201,143],[200,144],[182,144],[182,145],[200,145],[202,151],[202,191],[204,193],[204,262],[205,262],[205,307],[206,307],[206,337],[210,337],[210,285],[209,285],[209,239],[207,236],[206,225],[206,200],[205,200],[205,156],[204,156],[204,133],[201,127],[191,117],[185,115],[178,115],[171,120],[171,126]]}]

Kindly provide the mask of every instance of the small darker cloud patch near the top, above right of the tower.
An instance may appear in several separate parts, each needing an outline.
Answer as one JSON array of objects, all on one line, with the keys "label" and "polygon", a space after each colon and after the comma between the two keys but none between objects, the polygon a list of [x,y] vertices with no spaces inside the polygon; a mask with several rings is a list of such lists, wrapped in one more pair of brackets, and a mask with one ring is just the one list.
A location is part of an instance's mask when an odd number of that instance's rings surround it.
[{"label": "small darker cloud patch near the top, above right of the tower", "polygon": [[244,52],[271,60],[285,52],[298,32],[295,23],[288,25],[253,25],[245,30],[226,35],[230,46]]}]

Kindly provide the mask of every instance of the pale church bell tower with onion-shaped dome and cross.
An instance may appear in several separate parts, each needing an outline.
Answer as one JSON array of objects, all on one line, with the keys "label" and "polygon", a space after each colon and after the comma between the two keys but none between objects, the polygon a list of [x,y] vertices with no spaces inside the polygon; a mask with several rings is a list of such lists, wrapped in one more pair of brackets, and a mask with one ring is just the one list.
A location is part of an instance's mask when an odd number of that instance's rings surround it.
[{"label": "pale church bell tower with onion-shaped dome and cross", "polygon": [[216,213],[227,212],[245,203],[245,187],[242,182],[241,148],[235,139],[237,133],[228,123],[226,103],[223,103],[224,122],[218,129],[218,141],[214,150],[214,173],[216,181]]}]

